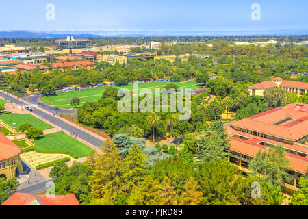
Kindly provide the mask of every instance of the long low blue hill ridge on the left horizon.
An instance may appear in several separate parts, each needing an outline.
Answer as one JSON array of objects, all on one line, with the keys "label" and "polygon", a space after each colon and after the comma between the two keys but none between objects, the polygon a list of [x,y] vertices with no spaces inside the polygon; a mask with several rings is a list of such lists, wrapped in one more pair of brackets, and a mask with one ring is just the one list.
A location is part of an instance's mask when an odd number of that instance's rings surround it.
[{"label": "long low blue hill ridge on the left horizon", "polygon": [[38,33],[31,31],[0,31],[0,38],[66,38],[73,36],[74,38],[101,38],[101,35],[94,34],[53,34]]}]

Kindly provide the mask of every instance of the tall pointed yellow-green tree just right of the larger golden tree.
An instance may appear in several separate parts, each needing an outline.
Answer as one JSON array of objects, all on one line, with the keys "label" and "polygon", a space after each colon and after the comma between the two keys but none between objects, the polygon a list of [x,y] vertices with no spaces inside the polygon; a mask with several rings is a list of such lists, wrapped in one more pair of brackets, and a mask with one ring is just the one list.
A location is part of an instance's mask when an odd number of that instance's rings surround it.
[{"label": "tall pointed yellow-green tree just right of the larger golden tree", "polygon": [[128,193],[149,175],[149,169],[146,167],[145,159],[146,155],[141,153],[141,149],[134,143],[131,149],[129,149],[129,155],[124,160],[123,178]]}]

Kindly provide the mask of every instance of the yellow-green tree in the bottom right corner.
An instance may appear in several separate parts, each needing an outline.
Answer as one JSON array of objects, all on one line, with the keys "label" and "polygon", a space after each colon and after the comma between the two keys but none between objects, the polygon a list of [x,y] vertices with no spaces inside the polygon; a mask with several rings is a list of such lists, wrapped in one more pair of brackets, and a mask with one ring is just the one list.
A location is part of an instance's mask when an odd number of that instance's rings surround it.
[{"label": "yellow-green tree in the bottom right corner", "polygon": [[308,205],[308,178],[300,177],[300,190],[294,192],[290,205]]}]

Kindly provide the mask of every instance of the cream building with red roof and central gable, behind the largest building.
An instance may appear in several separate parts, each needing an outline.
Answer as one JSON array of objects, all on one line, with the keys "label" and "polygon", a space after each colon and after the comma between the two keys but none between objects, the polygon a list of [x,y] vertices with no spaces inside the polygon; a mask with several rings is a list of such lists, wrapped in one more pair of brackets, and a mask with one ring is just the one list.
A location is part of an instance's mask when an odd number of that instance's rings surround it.
[{"label": "cream building with red roof and central gable, behind the largest building", "polygon": [[280,77],[274,77],[270,81],[256,83],[248,88],[250,95],[263,96],[264,90],[271,88],[283,88],[286,92],[296,93],[299,96],[306,94],[308,91],[308,83],[298,81],[285,81]]}]

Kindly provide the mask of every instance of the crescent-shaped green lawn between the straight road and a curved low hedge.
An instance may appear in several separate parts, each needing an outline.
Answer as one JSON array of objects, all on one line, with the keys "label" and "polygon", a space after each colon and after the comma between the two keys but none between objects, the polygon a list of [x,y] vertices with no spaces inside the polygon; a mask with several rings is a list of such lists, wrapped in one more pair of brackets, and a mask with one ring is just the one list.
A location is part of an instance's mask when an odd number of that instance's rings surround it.
[{"label": "crescent-shaped green lawn between the straight road and a curved low hedge", "polygon": [[75,153],[79,157],[86,157],[86,155],[93,150],[86,144],[83,144],[62,132],[44,135],[33,143],[38,147],[38,149],[47,151],[64,150]]}]

